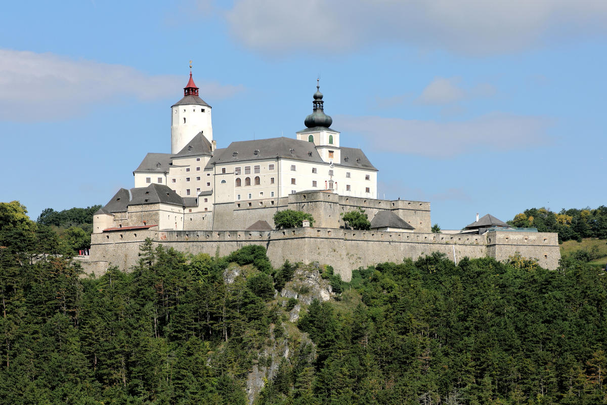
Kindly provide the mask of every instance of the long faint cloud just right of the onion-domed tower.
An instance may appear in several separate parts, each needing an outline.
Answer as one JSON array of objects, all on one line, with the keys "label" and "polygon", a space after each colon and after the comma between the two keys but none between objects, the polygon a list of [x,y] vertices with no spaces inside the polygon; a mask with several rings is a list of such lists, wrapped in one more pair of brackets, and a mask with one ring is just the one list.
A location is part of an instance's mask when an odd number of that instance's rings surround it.
[{"label": "long faint cloud just right of the onion-domed tower", "polygon": [[[427,157],[524,150],[548,143],[551,120],[494,112],[468,121],[420,121],[337,115],[342,131],[367,137],[376,151]],[[336,128],[337,128],[336,126]]]}]

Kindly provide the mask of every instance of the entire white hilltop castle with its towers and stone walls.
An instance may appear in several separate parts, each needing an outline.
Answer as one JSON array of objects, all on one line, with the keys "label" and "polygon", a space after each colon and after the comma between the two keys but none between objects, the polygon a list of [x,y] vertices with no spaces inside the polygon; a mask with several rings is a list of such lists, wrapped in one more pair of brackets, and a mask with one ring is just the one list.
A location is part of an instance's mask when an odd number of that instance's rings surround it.
[{"label": "entire white hilltop castle with its towers and stone walls", "polygon": [[[557,234],[515,230],[492,216],[462,231],[431,233],[430,203],[377,199],[378,169],[361,149],[341,146],[324,112],[319,84],[313,112],[295,138],[237,141],[217,148],[211,106],[190,71],[183,98],[171,106],[171,153],[148,153],[121,188],[93,216],[87,270],[128,268],[147,237],[191,253],[228,254],[244,245],[266,247],[273,265],[286,259],[333,265],[348,281],[351,270],[402,261],[433,251],[452,260],[515,252],[556,268]],[[369,231],[348,230],[341,214],[362,208]],[[310,213],[314,227],[274,230],[282,209]],[[305,224],[308,225],[308,224]]]}]

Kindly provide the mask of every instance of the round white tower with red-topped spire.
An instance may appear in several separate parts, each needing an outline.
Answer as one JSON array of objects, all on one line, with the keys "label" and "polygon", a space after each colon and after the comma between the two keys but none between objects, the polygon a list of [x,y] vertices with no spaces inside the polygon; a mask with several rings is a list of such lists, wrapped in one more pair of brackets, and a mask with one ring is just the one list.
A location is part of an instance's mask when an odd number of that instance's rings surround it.
[{"label": "round white tower with red-topped spire", "polygon": [[198,97],[198,87],[192,80],[192,65],[190,65],[190,80],[183,88],[183,98],[171,106],[171,153],[181,151],[202,131],[205,138],[212,143],[213,127],[211,124],[211,106]]}]

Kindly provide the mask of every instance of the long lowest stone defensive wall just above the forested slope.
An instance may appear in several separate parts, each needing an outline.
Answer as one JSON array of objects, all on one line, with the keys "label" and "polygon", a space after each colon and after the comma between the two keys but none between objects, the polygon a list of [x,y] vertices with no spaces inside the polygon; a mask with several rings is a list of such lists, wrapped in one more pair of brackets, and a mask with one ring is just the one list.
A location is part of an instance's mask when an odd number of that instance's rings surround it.
[{"label": "long lowest stone defensive wall just above the forested slope", "polygon": [[92,234],[87,272],[102,273],[110,265],[127,270],[138,261],[139,247],[149,237],[186,253],[225,256],[246,245],[261,245],[274,267],[285,260],[330,264],[345,281],[352,270],[381,262],[401,262],[438,251],[450,260],[495,257],[507,259],[515,252],[535,257],[542,267],[558,267],[560,251],[556,234],[492,231],[483,235],[354,231],[340,228],[293,228],[273,231],[159,231],[119,230]]}]

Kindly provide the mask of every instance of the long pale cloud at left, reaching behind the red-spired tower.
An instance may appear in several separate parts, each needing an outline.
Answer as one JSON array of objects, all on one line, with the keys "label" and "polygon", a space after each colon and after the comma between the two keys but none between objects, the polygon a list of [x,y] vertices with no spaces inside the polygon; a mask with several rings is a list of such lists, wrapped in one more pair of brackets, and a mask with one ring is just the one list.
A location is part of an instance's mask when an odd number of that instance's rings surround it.
[{"label": "long pale cloud at left, reaching behind the red-spired tower", "polygon": [[[0,49],[0,120],[57,120],[102,103],[178,98],[187,79],[53,53]],[[209,102],[243,89],[197,81]]]}]

